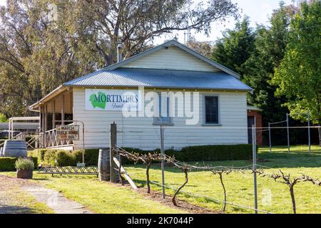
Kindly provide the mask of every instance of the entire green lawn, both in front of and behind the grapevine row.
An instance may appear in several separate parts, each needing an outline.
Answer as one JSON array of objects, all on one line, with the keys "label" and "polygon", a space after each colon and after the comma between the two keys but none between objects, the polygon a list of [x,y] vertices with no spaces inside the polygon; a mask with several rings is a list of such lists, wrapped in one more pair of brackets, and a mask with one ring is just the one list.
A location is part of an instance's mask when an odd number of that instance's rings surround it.
[{"label": "entire green lawn, both in front of and behind the grapevine row", "polygon": [[[321,148],[312,147],[312,153],[307,153],[307,146],[291,147],[291,154],[287,154],[286,147],[275,148],[272,153],[267,147],[260,148],[258,158],[267,160],[259,162],[260,165],[272,167],[266,172],[282,170],[291,175],[305,173],[311,177],[321,179]],[[208,165],[243,166],[250,165],[250,160],[205,162]],[[203,163],[198,164],[203,165]],[[126,166],[126,171],[133,177],[136,184],[145,187],[146,169],[143,165]],[[0,172],[0,174],[15,175],[14,172]],[[151,167],[151,180],[161,183],[161,169],[159,165]],[[253,207],[253,175],[231,173],[224,175],[228,202]],[[178,187],[185,180],[183,172],[173,167],[165,168],[165,183],[168,186]],[[61,191],[66,197],[79,202],[96,213],[181,213],[179,208],[168,207],[161,202],[147,199],[138,192],[121,185],[108,182],[98,182],[93,176],[68,176],[37,175],[34,173],[33,182],[46,185],[46,187]],[[161,192],[161,187],[152,184],[152,190]],[[218,176],[211,172],[190,172],[189,182],[183,191],[223,199],[223,191]],[[166,190],[172,195],[173,190]],[[297,213],[321,213],[321,187],[310,182],[299,183],[295,186]],[[213,202],[204,197],[190,197],[185,194],[178,195],[178,199],[186,200],[192,204],[220,210],[223,204]],[[258,208],[273,213],[292,213],[292,204],[288,187],[274,182],[267,177],[258,177]],[[252,210],[240,209],[231,205],[227,206],[227,213],[253,213]]]}]

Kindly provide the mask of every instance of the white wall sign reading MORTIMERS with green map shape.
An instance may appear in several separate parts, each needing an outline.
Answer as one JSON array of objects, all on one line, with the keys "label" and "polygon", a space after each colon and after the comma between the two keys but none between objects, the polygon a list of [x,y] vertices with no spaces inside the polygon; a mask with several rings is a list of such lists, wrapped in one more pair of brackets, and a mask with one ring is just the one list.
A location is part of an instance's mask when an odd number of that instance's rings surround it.
[{"label": "white wall sign reading MORTIMERS with green map shape", "polygon": [[86,110],[140,110],[138,90],[85,89]]}]

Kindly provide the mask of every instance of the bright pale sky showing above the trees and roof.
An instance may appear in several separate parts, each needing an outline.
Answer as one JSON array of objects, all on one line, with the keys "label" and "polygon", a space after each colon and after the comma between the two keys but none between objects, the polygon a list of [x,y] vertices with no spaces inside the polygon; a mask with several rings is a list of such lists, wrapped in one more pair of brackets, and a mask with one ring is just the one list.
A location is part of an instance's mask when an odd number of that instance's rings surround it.
[{"label": "bright pale sky showing above the trees and roof", "polygon": [[[202,0],[195,0],[196,2]],[[272,14],[273,9],[278,8],[280,0],[232,0],[233,3],[237,3],[240,8],[241,17],[248,15],[250,16],[251,26],[256,24],[264,24],[269,26],[268,19]],[[283,0],[285,4],[291,4],[295,0]],[[296,2],[296,1],[295,1]],[[0,5],[5,5],[6,0],[0,0]],[[235,20],[233,18],[226,19],[226,21],[221,24],[220,22],[213,22],[211,24],[211,33],[210,36],[205,36],[203,33],[193,33],[191,35],[195,36],[198,41],[215,41],[218,38],[222,37],[222,31],[226,28],[234,28]],[[180,33],[170,33],[166,36],[161,36],[154,40],[154,45],[161,44],[165,40],[174,37],[178,38],[180,43],[184,42],[184,32]]]}]

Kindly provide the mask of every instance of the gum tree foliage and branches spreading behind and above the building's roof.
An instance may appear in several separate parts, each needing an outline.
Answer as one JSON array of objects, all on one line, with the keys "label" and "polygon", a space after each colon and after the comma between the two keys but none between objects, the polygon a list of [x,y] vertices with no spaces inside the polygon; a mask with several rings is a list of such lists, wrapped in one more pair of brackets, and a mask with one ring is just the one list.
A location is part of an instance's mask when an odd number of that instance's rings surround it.
[{"label": "gum tree foliage and branches spreading behind and above the building's roof", "polygon": [[61,83],[115,63],[118,42],[128,58],[164,33],[209,33],[237,11],[230,0],[8,1],[0,6],[1,113],[34,115],[29,105]]}]

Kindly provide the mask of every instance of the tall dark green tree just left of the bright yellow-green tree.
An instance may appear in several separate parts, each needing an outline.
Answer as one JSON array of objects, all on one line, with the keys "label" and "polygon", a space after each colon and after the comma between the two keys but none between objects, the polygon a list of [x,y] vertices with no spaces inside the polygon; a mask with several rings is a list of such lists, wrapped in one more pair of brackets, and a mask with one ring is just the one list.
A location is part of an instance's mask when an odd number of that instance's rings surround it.
[{"label": "tall dark green tree just left of the bright yellow-green tree", "polygon": [[[244,82],[253,88],[248,103],[263,109],[263,124],[285,118],[284,97],[275,98],[275,86],[270,85],[274,69],[280,65],[287,45],[292,6],[280,3],[270,18],[270,28],[259,25],[255,31],[254,51],[243,65]],[[282,134],[281,130],[276,134]]]}]

